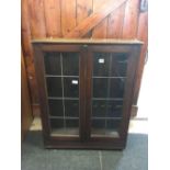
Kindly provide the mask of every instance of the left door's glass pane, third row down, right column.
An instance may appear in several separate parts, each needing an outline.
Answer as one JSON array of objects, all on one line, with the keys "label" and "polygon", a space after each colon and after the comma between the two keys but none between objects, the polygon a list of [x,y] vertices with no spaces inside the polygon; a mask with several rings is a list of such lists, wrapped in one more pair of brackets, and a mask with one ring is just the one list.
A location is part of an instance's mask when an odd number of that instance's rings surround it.
[{"label": "left door's glass pane, third row down, right column", "polygon": [[65,100],[65,114],[68,117],[79,117],[79,101]]}]

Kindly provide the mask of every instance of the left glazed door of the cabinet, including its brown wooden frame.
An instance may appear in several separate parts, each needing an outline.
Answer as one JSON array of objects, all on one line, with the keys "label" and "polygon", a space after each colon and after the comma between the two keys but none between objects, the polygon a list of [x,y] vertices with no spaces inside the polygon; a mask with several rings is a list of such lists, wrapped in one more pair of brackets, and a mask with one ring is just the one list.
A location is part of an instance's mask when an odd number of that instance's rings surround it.
[{"label": "left glazed door of the cabinet, including its brown wooden frame", "polygon": [[80,79],[84,83],[84,78],[80,71],[83,57],[79,49],[78,45],[35,46],[43,128],[47,138],[80,140],[80,105],[83,105]]}]

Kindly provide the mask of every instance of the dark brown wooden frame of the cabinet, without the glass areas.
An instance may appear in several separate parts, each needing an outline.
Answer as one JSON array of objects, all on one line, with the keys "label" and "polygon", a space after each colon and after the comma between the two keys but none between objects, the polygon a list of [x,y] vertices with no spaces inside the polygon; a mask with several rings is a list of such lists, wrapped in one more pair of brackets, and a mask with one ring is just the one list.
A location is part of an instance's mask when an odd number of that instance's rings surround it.
[{"label": "dark brown wooden frame of the cabinet, without the glass areas", "polygon": [[[123,149],[126,145],[127,129],[133,104],[134,86],[141,42],[137,41],[76,41],[76,39],[35,39],[33,41],[35,68],[39,88],[42,123],[46,148],[90,148],[90,149]],[[79,136],[52,136],[47,90],[44,78],[45,52],[78,52],[79,53]],[[94,53],[124,53],[128,55],[127,75],[123,102],[123,118],[118,129],[120,136],[91,137],[92,114],[92,70]]]}]

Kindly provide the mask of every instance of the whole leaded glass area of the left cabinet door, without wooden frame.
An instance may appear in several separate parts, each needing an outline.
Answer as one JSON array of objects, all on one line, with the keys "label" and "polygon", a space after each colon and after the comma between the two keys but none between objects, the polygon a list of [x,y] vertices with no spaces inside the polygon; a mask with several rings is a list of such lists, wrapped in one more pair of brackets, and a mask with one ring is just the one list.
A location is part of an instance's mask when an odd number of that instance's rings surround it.
[{"label": "whole leaded glass area of the left cabinet door, without wooden frame", "polygon": [[44,68],[50,136],[79,137],[80,53],[45,52]]}]

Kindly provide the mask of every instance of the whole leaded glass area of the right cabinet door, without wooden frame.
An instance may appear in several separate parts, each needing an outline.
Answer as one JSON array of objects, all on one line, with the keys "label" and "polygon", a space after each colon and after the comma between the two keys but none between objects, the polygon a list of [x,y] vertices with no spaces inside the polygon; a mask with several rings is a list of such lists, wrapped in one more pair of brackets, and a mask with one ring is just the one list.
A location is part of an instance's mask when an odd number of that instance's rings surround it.
[{"label": "whole leaded glass area of the right cabinet door, without wooden frame", "polygon": [[128,56],[95,53],[92,75],[91,136],[118,137]]}]

